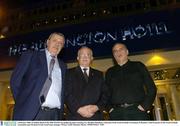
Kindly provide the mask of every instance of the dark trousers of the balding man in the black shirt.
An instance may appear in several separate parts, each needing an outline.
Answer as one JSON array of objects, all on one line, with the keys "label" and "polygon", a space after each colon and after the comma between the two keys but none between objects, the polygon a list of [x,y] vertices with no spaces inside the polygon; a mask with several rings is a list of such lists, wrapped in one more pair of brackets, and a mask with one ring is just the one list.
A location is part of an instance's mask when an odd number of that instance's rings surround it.
[{"label": "dark trousers of the balding man in the black shirt", "polygon": [[115,107],[109,116],[110,120],[150,120],[147,112],[139,110],[137,105],[127,108]]}]

